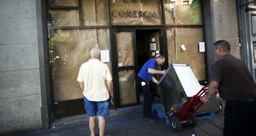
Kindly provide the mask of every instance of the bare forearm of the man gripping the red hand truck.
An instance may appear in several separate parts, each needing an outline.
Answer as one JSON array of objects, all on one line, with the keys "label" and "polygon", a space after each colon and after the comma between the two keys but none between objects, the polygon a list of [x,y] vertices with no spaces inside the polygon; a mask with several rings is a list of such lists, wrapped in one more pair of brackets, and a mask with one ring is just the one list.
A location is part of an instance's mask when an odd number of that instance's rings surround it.
[{"label": "bare forearm of the man gripping the red hand truck", "polygon": [[208,86],[207,96],[201,97],[200,100],[204,103],[207,103],[209,101],[209,99],[211,98],[211,96],[213,94],[216,94],[216,90],[218,89],[218,86],[219,86],[219,82],[211,81]]}]

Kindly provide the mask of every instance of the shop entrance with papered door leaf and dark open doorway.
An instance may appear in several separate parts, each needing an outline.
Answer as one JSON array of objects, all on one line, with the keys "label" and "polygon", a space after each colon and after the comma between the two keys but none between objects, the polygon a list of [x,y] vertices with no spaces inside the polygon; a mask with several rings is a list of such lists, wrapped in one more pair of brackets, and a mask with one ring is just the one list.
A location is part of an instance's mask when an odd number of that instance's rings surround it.
[{"label": "shop entrance with papered door leaf and dark open doorway", "polygon": [[113,29],[113,50],[115,50],[113,76],[116,77],[113,81],[116,108],[143,102],[143,93],[135,78],[147,60],[163,54],[162,31],[162,28]]}]

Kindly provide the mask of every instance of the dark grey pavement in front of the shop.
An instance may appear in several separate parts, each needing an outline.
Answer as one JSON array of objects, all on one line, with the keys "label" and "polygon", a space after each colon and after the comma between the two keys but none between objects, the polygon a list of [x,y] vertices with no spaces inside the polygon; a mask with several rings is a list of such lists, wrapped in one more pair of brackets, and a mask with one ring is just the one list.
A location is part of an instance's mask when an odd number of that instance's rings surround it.
[{"label": "dark grey pavement in front of the shop", "polygon": [[[130,106],[127,108],[119,108],[110,110],[110,115],[106,118],[105,134],[111,136],[221,136],[223,135],[223,110],[215,113],[215,117],[207,119],[199,119],[197,126],[191,128],[186,124],[182,124],[179,132],[174,132],[164,118],[158,118],[154,124],[145,122],[142,118],[142,105]],[[98,127],[98,126],[97,126]],[[96,127],[96,128],[97,128]],[[98,128],[96,132],[99,132]],[[98,133],[97,133],[98,134]],[[90,135],[88,127],[88,116],[86,114],[74,116],[71,118],[56,119],[49,129],[30,130],[6,136],[57,136],[57,135]]]}]

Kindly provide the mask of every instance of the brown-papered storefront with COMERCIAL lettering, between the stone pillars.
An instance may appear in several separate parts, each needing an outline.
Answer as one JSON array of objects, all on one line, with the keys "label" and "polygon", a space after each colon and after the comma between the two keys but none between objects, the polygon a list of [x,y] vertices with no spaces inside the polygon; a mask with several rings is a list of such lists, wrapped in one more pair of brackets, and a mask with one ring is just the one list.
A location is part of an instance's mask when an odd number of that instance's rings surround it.
[{"label": "brown-papered storefront with COMERCIAL lettering, between the stone pillars", "polygon": [[200,0],[49,1],[55,118],[84,114],[76,78],[92,47],[102,51],[101,61],[112,70],[115,108],[142,101],[136,74],[160,54],[168,60],[162,69],[186,63],[198,81],[207,81],[202,15]]}]

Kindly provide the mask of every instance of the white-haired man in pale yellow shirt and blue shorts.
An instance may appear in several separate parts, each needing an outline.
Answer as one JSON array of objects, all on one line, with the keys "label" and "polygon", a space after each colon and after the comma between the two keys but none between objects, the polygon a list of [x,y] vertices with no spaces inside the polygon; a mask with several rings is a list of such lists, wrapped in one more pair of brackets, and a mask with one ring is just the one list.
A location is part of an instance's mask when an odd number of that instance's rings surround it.
[{"label": "white-haired man in pale yellow shirt and blue shorts", "polygon": [[92,59],[80,66],[77,81],[83,92],[85,110],[90,116],[89,127],[95,136],[96,112],[100,136],[104,135],[105,116],[109,115],[109,96],[113,98],[113,82],[108,65],[100,62],[100,49],[91,50]]}]

